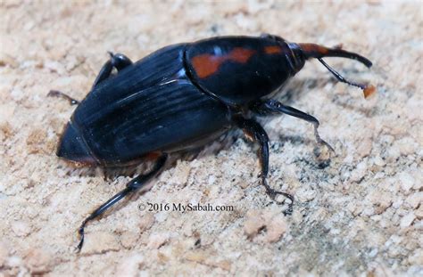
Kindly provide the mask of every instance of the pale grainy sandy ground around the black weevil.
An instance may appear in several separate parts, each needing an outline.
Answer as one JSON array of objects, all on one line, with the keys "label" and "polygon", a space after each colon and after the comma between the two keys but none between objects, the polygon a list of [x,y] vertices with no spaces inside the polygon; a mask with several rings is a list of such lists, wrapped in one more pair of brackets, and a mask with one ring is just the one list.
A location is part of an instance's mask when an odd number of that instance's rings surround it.
[{"label": "pale grainy sandy ground around the black weevil", "polygon": [[[423,275],[421,2],[63,3],[0,4],[0,275]],[[137,60],[163,45],[263,32],[342,43],[374,62],[369,70],[327,59],[377,86],[368,100],[317,61],[279,96],[319,118],[331,159],[310,124],[265,121],[269,181],[294,194],[294,214],[283,216],[264,193],[255,151],[239,138],[178,160],[151,191],[88,225],[75,254],[81,220],[129,177],[104,181],[101,170],[88,174],[55,157],[74,107],[47,92],[82,99],[107,51]],[[137,208],[147,203],[234,210]]]}]

